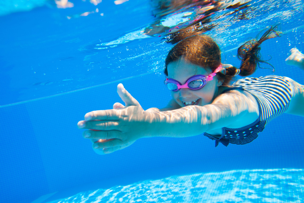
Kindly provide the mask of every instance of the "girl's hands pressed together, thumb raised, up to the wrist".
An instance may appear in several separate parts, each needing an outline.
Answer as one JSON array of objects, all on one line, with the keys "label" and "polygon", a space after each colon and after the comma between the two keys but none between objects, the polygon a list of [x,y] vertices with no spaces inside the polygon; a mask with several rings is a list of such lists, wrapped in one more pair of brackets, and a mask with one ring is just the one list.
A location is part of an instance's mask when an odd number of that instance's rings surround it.
[{"label": "girl's hands pressed together, thumb raised, up to the wrist", "polygon": [[149,113],[145,112],[122,84],[117,86],[117,93],[125,102],[115,103],[114,109],[97,110],[85,114],[85,121],[79,121],[78,127],[90,129],[83,132],[90,138],[93,149],[98,154],[108,154],[133,144],[143,137],[149,128]]}]

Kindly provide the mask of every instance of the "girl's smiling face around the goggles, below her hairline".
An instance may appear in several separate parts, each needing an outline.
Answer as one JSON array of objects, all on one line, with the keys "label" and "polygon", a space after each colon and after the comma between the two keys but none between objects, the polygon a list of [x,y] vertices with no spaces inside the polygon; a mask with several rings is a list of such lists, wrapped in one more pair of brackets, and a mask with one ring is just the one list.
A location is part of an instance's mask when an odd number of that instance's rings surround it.
[{"label": "girl's smiling face around the goggles, below her hairline", "polygon": [[[179,81],[182,85],[185,84],[188,78],[193,75],[209,75],[211,70],[203,68],[199,65],[192,64],[181,58],[178,61],[173,61],[168,64],[168,78]],[[181,88],[179,91],[171,91],[173,99],[181,106],[198,105],[204,106],[212,103],[212,101],[218,96],[219,86],[222,82],[219,82],[217,77],[213,77],[213,80],[207,82],[205,86],[198,90],[192,90],[188,88]]]}]

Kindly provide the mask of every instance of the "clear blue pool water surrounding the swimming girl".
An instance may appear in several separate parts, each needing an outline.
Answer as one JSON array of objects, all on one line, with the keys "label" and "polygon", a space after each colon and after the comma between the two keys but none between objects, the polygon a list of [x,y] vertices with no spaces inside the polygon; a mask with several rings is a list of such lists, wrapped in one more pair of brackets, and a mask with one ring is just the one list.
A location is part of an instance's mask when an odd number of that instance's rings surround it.
[{"label": "clear blue pool water surrounding the swimming girl", "polygon": [[[303,117],[282,115],[246,145],[215,148],[202,135],[145,138],[95,154],[76,124],[121,102],[118,83],[144,109],[170,99],[162,70],[172,45],[165,33],[142,31],[177,21],[154,17],[152,1],[69,2],[65,9],[53,0],[0,2],[0,202],[304,201]],[[291,48],[304,52],[302,1],[239,2],[248,7],[221,9],[207,23],[216,25],[206,34],[222,62],[238,66],[237,47],[280,23],[284,35],[261,47],[275,72],[263,65],[252,76],[304,84],[304,71],[284,62]]]}]

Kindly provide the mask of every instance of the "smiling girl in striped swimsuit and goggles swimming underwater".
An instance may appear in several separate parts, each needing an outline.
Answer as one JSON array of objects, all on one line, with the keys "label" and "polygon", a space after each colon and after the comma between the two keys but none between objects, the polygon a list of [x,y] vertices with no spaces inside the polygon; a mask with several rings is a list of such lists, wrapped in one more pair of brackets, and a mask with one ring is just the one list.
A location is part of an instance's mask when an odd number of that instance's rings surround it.
[{"label": "smiling girl in striped swimsuit and goggles swimming underwater", "polygon": [[[275,27],[274,27],[275,28]],[[112,110],[85,114],[78,127],[93,142],[98,154],[111,153],[143,137],[188,137],[202,134],[227,146],[246,144],[257,138],[265,125],[282,113],[304,116],[304,86],[287,77],[269,75],[240,79],[254,73],[260,62],[260,44],[280,33],[270,28],[260,40],[250,40],[238,49],[240,68],[221,63],[218,45],[206,35],[188,37],[176,44],[165,61],[165,85],[172,100],[164,109],[140,106],[122,84],[117,93],[126,103]],[[304,66],[297,49],[288,64]]]}]

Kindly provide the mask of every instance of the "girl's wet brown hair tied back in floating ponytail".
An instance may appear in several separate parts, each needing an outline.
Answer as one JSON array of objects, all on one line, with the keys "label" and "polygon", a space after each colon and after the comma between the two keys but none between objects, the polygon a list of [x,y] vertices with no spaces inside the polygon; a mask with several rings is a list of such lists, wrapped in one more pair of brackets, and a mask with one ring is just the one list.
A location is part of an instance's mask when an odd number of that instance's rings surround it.
[{"label": "girl's wet brown hair tied back in floating ponytail", "polygon": [[[255,72],[260,63],[267,63],[261,59],[261,43],[267,39],[279,37],[281,32],[276,31],[277,26],[270,26],[268,30],[257,39],[252,39],[242,44],[237,50],[237,57],[241,60],[240,76],[248,76]],[[168,53],[165,60],[164,74],[168,76],[168,64],[184,58],[186,61],[208,67],[212,72],[221,65],[221,52],[216,42],[207,35],[194,35],[187,37],[176,44]],[[219,79],[223,80],[223,86],[228,86],[235,79],[238,68],[232,65],[222,65],[226,69],[226,75],[217,73]]]}]

